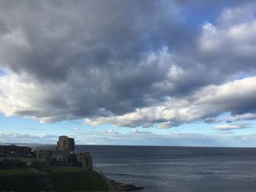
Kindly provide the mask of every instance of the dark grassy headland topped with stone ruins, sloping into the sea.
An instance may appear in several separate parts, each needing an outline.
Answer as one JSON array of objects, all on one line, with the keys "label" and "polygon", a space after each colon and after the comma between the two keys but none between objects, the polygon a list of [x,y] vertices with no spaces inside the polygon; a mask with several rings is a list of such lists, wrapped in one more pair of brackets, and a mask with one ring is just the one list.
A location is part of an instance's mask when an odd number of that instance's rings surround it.
[{"label": "dark grassy headland topped with stone ruins, sloping into the sea", "polygon": [[0,145],[0,191],[137,191],[94,170],[89,152],[75,153],[75,140],[60,136],[55,150]]}]

